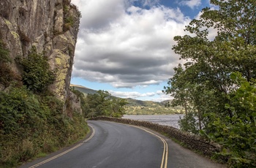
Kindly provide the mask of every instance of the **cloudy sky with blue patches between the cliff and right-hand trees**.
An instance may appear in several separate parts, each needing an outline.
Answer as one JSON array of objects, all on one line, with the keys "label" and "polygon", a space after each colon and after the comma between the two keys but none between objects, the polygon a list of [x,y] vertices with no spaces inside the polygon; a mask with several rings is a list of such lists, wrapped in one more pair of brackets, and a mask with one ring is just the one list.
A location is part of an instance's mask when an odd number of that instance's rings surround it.
[{"label": "cloudy sky with blue patches between the cliff and right-hand trees", "polygon": [[71,83],[113,96],[162,102],[184,36],[209,0],[72,0],[82,14]]}]

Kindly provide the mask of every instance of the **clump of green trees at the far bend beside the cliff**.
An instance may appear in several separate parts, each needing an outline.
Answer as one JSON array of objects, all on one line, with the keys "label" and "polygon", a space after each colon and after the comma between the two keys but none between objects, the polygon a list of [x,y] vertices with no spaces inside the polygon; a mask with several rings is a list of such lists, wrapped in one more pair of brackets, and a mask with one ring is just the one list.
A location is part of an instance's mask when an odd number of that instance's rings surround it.
[{"label": "clump of green trees at the far bend beside the cliff", "polygon": [[124,115],[125,99],[118,99],[110,96],[108,91],[97,91],[95,94],[86,96],[86,117],[110,116],[121,118]]}]

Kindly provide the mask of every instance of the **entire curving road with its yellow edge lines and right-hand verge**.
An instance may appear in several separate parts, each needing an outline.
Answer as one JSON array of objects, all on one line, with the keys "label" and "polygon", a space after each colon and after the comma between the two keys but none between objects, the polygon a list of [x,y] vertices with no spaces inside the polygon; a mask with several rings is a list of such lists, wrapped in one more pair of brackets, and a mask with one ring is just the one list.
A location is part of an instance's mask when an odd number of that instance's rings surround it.
[{"label": "entire curving road with its yellow edge lines and right-hand verge", "polygon": [[223,167],[148,129],[108,121],[89,121],[89,126],[92,134],[84,142],[20,168]]}]

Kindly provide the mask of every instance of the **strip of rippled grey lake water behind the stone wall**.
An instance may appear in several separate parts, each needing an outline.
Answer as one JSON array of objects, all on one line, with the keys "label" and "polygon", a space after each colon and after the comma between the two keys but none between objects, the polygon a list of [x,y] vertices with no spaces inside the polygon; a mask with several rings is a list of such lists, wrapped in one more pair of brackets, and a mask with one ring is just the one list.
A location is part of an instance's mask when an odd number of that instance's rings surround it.
[{"label": "strip of rippled grey lake water behind the stone wall", "polygon": [[151,123],[158,123],[164,126],[173,126],[179,129],[178,121],[183,118],[184,115],[124,115],[122,118],[127,118],[137,121],[148,121]]}]

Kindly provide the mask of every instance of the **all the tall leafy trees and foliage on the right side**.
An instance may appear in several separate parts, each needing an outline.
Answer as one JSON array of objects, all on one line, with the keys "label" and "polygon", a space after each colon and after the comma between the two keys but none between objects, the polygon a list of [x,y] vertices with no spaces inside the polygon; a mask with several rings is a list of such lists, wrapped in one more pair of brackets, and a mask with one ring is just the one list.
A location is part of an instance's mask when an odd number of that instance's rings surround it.
[{"label": "all the tall leafy trees and foliage on the right side", "polygon": [[[256,4],[211,0],[174,37],[179,64],[164,88],[184,107],[181,129],[222,145],[216,158],[229,167],[256,167]],[[213,38],[209,31],[215,32]]]}]

